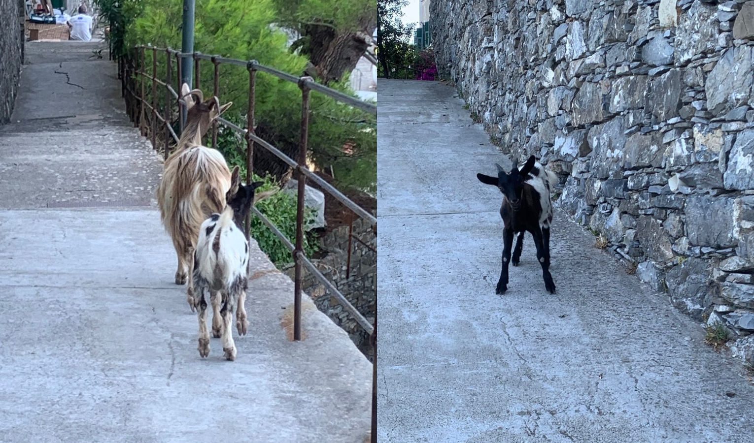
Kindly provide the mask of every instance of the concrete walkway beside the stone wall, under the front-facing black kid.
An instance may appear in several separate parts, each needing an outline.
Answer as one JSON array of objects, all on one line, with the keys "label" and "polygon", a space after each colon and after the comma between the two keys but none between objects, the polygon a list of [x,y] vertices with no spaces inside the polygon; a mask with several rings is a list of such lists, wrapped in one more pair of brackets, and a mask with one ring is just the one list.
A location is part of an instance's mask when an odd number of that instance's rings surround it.
[{"label": "concrete walkway beside the stone wall, under the front-facing black kid", "polygon": [[531,236],[500,273],[509,160],[455,89],[379,81],[379,441],[752,441],[740,362],[556,213],[556,295]]}]

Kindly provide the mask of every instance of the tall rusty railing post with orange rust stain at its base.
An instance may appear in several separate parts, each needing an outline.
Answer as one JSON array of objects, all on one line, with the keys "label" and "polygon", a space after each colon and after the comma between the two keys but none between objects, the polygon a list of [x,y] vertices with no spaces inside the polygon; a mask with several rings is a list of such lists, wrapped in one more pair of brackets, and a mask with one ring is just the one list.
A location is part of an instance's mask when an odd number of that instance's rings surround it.
[{"label": "tall rusty railing post with orange rust stain at its base", "polygon": [[304,192],[306,176],[302,173],[306,167],[306,144],[309,136],[309,88],[306,81],[311,77],[302,77],[299,80],[301,88],[301,139],[299,141],[299,166],[298,170],[299,192],[296,204],[296,250],[293,252],[293,262],[296,264],[296,280],[294,281],[293,298],[293,340],[301,340],[301,291],[302,291],[302,263],[301,255],[304,255]]}]

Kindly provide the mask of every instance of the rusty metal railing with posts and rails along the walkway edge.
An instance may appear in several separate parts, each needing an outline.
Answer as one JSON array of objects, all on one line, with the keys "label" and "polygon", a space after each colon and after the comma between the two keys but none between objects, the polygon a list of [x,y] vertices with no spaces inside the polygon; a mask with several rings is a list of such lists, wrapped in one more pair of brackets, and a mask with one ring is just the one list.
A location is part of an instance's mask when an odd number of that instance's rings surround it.
[{"label": "rusty metal railing with posts and rails along the walkway edge", "polygon": [[[157,122],[159,121],[162,125],[165,127],[165,139],[164,139],[164,157],[167,159],[167,155],[170,152],[170,144],[169,144],[169,138],[172,138],[175,142],[178,142],[179,137],[176,135],[175,131],[172,127],[172,113],[170,112],[170,108],[172,106],[171,104],[171,98],[175,99],[175,101],[178,103],[179,108],[182,110],[182,103],[178,101],[178,94],[172,87],[172,81],[170,80],[170,72],[171,72],[171,60],[173,57],[176,59],[176,65],[178,72],[180,72],[181,64],[185,63],[184,58],[191,58],[194,60],[195,63],[195,88],[200,87],[200,61],[201,60],[210,60],[213,65],[215,66],[214,70],[214,95],[219,95],[219,65],[220,64],[230,64],[234,66],[244,66],[246,67],[247,71],[249,72],[249,108],[247,110],[247,127],[243,128],[238,126],[237,124],[233,124],[231,121],[225,120],[225,118],[216,118],[216,120],[213,122],[213,147],[217,146],[217,132],[218,132],[218,124],[222,124],[224,127],[228,127],[229,129],[233,130],[236,133],[241,134],[244,136],[244,138],[247,141],[247,182],[251,181],[251,174],[253,173],[253,151],[255,145],[259,145],[262,148],[265,148],[267,151],[274,154],[276,157],[280,158],[280,160],[283,160],[284,163],[287,163],[290,167],[293,168],[293,170],[297,173],[297,179],[299,182],[299,190],[298,190],[298,201],[296,203],[296,242],[293,243],[291,240],[289,240],[285,235],[280,232],[280,230],[272,223],[265,215],[263,215],[261,212],[259,212],[258,209],[252,208],[253,215],[256,215],[259,217],[259,219],[262,221],[265,226],[267,226],[272,233],[275,235],[275,237],[279,238],[284,245],[290,249],[293,256],[293,261],[295,264],[295,289],[294,289],[294,321],[293,321],[293,338],[296,341],[301,340],[301,292],[302,292],[302,268],[306,267],[311,274],[322,283],[328,292],[331,293],[345,308],[345,310],[348,310],[349,313],[351,313],[352,316],[354,316],[354,319],[358,322],[358,324],[363,328],[364,331],[366,331],[369,335],[374,335],[375,332],[375,326],[370,325],[369,321],[366,320],[366,318],[358,312],[358,310],[348,301],[347,298],[345,298],[344,295],[331,283],[325,276],[323,276],[322,273],[320,273],[319,270],[317,270],[316,267],[314,267],[314,264],[306,257],[304,250],[303,250],[303,237],[304,237],[304,191],[305,191],[305,182],[306,179],[311,179],[311,181],[317,183],[323,191],[328,192],[329,194],[333,195],[337,200],[339,200],[341,203],[343,203],[348,209],[351,209],[352,212],[354,212],[356,215],[358,215],[360,218],[363,218],[369,225],[373,225],[376,228],[377,218],[375,218],[374,215],[370,214],[368,211],[364,210],[360,206],[358,206],[356,203],[354,203],[352,200],[350,200],[348,197],[346,197],[344,194],[342,194],[340,191],[338,191],[333,185],[330,185],[325,180],[321,179],[319,176],[311,172],[307,165],[306,165],[306,148],[307,148],[307,142],[308,142],[308,116],[309,116],[309,109],[308,109],[308,101],[309,101],[309,92],[311,90],[315,90],[318,93],[323,93],[326,96],[329,96],[333,99],[336,99],[339,102],[343,102],[347,105],[351,105],[354,108],[359,108],[365,112],[369,112],[372,115],[377,114],[377,106],[373,103],[369,102],[363,102],[359,99],[356,99],[354,97],[348,96],[344,93],[341,93],[337,90],[330,89],[329,87],[326,87],[322,84],[317,84],[314,79],[311,77],[296,77],[295,75],[291,75],[287,72],[282,72],[280,70],[271,68],[269,66],[264,66],[262,64],[259,64],[256,60],[236,60],[236,59],[230,59],[226,57],[219,57],[219,56],[211,56],[211,55],[205,55],[200,52],[195,53],[182,53],[177,50],[173,50],[171,48],[158,48],[158,47],[152,47],[152,46],[144,46],[139,45],[136,46],[134,49],[139,51],[140,55],[140,63],[139,68],[136,69],[136,67],[133,67],[133,69],[130,69],[130,66],[133,65],[131,63],[132,60],[126,59],[126,60],[118,60],[118,69],[121,71],[121,81],[122,89],[123,89],[123,95],[124,96],[130,96],[133,99],[138,102],[138,111],[133,112],[139,112],[139,115],[132,115],[132,110],[129,111],[129,115],[132,117],[133,121],[136,122],[136,120],[139,120],[138,125],[142,128],[142,133],[146,132],[146,126],[143,124],[143,118],[148,115],[149,111],[152,115],[152,145],[157,146],[157,139],[156,139],[156,131],[157,131]],[[145,64],[145,53],[146,50],[152,50],[152,74],[149,74],[146,72],[146,64]],[[162,81],[158,78],[157,75],[157,55],[158,53],[164,53],[166,55],[167,60],[167,71],[166,71],[166,79],[165,81]],[[140,76],[141,78],[141,94],[139,95],[136,93],[132,88],[130,87],[128,79],[130,78],[129,75],[127,75],[127,72],[130,71],[133,75]],[[301,126],[301,133],[300,133],[300,139],[299,139],[299,159],[298,161],[293,160],[292,158],[288,157],[286,154],[284,154],[283,151],[280,151],[279,149],[275,148],[274,145],[271,145],[271,143],[266,142],[265,140],[261,139],[259,136],[254,133],[255,128],[253,127],[254,122],[254,98],[256,93],[256,72],[265,72],[269,75],[274,75],[277,78],[280,78],[284,81],[289,81],[292,83],[296,83],[299,86],[299,89],[302,91],[302,126]],[[146,94],[145,94],[145,81],[149,79],[152,81],[152,104],[150,105],[148,102],[146,102]],[[135,80],[134,80],[135,81]],[[158,105],[157,105],[157,85],[161,85],[161,87],[165,88],[165,99],[164,99],[164,117],[160,115],[158,112]],[[136,124],[136,123],[135,123]],[[180,121],[181,128],[183,127],[183,121]],[[243,152],[242,152],[243,154]],[[251,215],[246,220],[246,234],[247,237],[249,235],[249,228],[250,228],[250,218]],[[352,221],[351,221],[352,222]],[[351,235],[351,237],[354,237]],[[359,239],[357,239],[359,240]],[[362,242],[363,243],[363,242]],[[350,251],[349,251],[350,252]]]}]

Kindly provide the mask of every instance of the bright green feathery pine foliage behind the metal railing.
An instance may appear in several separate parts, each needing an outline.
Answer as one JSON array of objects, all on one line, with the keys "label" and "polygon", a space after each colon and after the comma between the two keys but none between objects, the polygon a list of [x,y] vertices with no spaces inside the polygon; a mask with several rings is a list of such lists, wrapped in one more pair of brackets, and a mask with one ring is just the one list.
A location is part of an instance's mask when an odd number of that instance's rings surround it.
[{"label": "bright green feathery pine foliage behind the metal railing", "polygon": [[[98,0],[112,2],[121,11],[124,44],[152,44],[179,48],[181,44],[182,2],[170,0]],[[324,2],[325,0],[317,0]],[[339,5],[345,0],[330,0]],[[315,2],[303,1],[308,8]],[[349,7],[350,8],[350,7]],[[302,10],[304,11],[304,10]],[[345,8],[344,11],[348,11]],[[301,75],[308,59],[288,50],[287,35],[271,26],[277,20],[273,0],[199,0],[196,3],[195,49],[241,60],[257,60],[266,66]],[[158,76],[164,78],[165,56],[158,54]],[[146,66],[152,66],[152,51],[146,51]],[[173,62],[173,69],[175,62]],[[205,96],[212,92],[214,67],[201,63]],[[219,91],[222,102],[233,102],[224,118],[245,121],[248,108],[249,74],[244,66],[219,66]],[[173,74],[175,78],[175,74]],[[354,96],[348,78],[331,82],[329,87]],[[149,91],[148,91],[149,93]],[[162,102],[162,93],[158,102]],[[265,72],[256,75],[256,127],[265,140],[292,157],[298,151],[301,121],[301,90]],[[376,118],[348,105],[342,105],[312,91],[310,94],[309,158],[317,167],[330,170],[339,188],[352,187],[375,191],[377,136]],[[245,123],[244,125],[245,126]],[[348,147],[344,149],[344,147]],[[258,173],[265,171],[257,170]]]}]

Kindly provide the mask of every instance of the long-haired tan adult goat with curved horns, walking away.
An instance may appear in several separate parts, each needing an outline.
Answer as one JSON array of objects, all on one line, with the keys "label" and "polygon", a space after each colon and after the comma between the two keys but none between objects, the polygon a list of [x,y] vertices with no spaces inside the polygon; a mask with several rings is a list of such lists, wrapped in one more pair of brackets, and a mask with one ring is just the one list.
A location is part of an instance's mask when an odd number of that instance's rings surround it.
[{"label": "long-haired tan adult goat with curved horns, walking away", "polygon": [[165,160],[157,200],[162,223],[173,239],[178,255],[176,285],[189,283],[189,306],[192,299],[194,251],[199,228],[214,212],[225,209],[225,194],[231,187],[231,172],[219,151],[201,145],[201,137],[212,122],[232,105],[220,105],[213,96],[204,102],[201,90],[181,87],[181,99],[186,105],[186,122],[175,151]]}]

